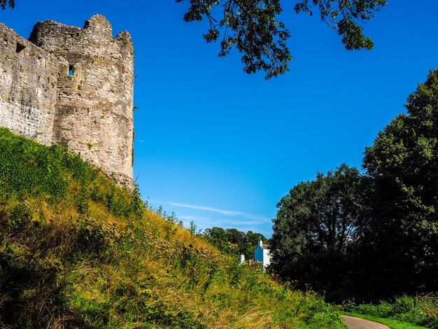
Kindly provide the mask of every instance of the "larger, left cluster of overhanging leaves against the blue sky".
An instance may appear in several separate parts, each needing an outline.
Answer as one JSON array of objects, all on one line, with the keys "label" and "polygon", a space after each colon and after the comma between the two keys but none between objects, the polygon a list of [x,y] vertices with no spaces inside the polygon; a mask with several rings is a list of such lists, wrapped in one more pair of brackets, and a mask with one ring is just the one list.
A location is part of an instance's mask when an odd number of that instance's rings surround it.
[{"label": "larger, left cluster of overhanging leaves against the blue sky", "polygon": [[[185,0],[176,0],[182,2]],[[210,27],[204,34],[206,42],[216,42],[223,31],[219,56],[229,54],[235,46],[241,52],[243,71],[255,73],[263,70],[266,78],[278,76],[288,71],[292,58],[285,41],[290,36],[277,16],[282,9],[279,0],[190,0],[190,8],[184,15],[185,22],[209,20]],[[219,6],[223,15],[215,18],[213,8]]]}]

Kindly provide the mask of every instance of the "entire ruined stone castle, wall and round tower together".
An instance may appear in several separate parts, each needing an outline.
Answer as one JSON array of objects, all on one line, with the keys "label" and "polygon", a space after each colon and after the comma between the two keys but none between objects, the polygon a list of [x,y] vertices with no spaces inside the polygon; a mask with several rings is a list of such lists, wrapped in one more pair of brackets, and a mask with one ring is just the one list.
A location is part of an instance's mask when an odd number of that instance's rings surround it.
[{"label": "entire ruined stone castle, wall and round tower together", "polygon": [[29,41],[0,23],[0,126],[66,146],[133,186],[134,50],[101,15],[83,29],[47,20]]}]

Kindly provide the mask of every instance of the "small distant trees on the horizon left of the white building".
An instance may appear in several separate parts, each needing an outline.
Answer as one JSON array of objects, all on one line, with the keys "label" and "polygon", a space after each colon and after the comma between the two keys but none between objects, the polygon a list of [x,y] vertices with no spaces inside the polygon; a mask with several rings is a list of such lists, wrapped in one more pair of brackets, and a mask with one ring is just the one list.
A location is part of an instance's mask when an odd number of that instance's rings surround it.
[{"label": "small distant trees on the horizon left of the white building", "polygon": [[[191,230],[192,231],[192,230]],[[253,231],[241,232],[235,228],[207,228],[199,233],[222,253],[229,255],[245,255],[245,259],[254,259],[254,250],[258,241],[267,239],[260,233]]]}]

